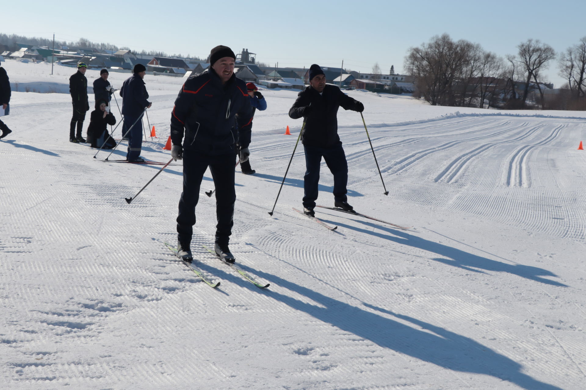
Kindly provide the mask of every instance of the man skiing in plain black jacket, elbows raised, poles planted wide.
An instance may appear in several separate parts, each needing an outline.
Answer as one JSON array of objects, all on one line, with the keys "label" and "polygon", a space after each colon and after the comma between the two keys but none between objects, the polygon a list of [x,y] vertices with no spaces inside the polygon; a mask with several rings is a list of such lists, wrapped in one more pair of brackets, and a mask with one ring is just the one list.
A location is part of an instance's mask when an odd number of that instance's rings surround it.
[{"label": "man skiing in plain black jacket, elbows raised, poles planted wide", "polygon": [[299,92],[289,109],[292,119],[304,118],[301,136],[305,149],[304,213],[315,216],[318,199],[319,164],[323,159],[333,175],[334,206],[353,211],[347,202],[348,164],[338,136],[338,108],[364,111],[364,105],[345,95],[335,85],[326,85],[326,77],[319,65],[309,68],[309,87]]}]

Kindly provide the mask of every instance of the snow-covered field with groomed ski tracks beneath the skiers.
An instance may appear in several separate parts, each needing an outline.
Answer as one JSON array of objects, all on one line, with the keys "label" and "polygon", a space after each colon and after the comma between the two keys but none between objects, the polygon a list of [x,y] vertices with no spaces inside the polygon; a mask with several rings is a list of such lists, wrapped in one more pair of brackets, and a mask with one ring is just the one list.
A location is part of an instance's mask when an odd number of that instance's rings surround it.
[{"label": "snow-covered field with groomed ski tracks beneath the skiers", "polygon": [[[2,66],[11,82],[56,90],[75,71]],[[91,84],[98,71],[86,75]],[[114,87],[126,77],[110,74]],[[166,162],[183,80],[145,81],[159,138],[142,156]],[[585,388],[586,152],[576,149],[586,113],[455,112],[348,91],[366,107],[389,190],[360,115],[340,109],[349,202],[414,227],[324,210],[331,232],[292,210],[303,194],[300,147],[268,215],[301,120],[287,115],[297,92],[262,92],[257,174],[237,168],[230,247],[271,284],[264,290],[201,246],[216,223],[203,191],[195,264],[222,285],[210,288],[163,246],[176,238],[180,166],[129,205],[160,167],[92,158],[96,150],[68,141],[69,95],[13,92],[2,118],[13,133],[0,141],[2,388]],[[124,158],[125,145],[114,154]],[[318,204],[331,206],[325,164],[320,183]],[[213,189],[209,175],[202,189]]]}]

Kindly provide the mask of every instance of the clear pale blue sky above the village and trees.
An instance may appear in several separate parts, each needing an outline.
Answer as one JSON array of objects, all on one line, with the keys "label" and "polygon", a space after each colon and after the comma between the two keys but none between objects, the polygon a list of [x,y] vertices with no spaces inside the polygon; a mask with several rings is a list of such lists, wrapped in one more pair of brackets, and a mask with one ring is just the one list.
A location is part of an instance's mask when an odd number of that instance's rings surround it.
[{"label": "clear pale blue sky above the village and trees", "polygon": [[[16,4],[15,4],[16,3]],[[221,4],[221,5],[219,5]],[[529,38],[558,53],[586,36],[584,0],[478,1],[232,1],[193,2],[38,0],[2,5],[0,32],[76,41],[80,37],[133,50],[206,57],[217,44],[279,66],[344,67],[370,71],[379,63],[403,71],[412,46],[436,34],[479,43],[500,56]],[[560,86],[557,61],[547,72]]]}]

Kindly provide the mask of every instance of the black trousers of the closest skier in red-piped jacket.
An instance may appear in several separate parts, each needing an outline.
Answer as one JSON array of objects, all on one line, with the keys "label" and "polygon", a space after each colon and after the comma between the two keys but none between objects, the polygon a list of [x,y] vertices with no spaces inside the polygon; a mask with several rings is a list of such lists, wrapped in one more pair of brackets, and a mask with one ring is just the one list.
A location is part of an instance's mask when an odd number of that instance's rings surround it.
[{"label": "black trousers of the closest skier in red-piped jacket", "polygon": [[183,192],[179,199],[179,216],[177,217],[178,239],[189,243],[195,225],[195,206],[199,201],[199,189],[203,174],[210,167],[216,186],[216,243],[227,245],[234,226],[234,165],[236,152],[220,156],[207,156],[193,151],[183,151]]}]

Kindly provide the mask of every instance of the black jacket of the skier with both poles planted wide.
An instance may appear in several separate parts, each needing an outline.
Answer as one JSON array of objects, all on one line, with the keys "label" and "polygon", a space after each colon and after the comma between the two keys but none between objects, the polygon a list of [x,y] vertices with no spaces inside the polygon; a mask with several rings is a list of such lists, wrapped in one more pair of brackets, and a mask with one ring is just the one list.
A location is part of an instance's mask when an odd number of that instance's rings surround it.
[{"label": "black jacket of the skier with both poles planted wide", "polygon": [[304,117],[305,129],[301,138],[304,145],[332,147],[341,143],[338,108],[341,106],[345,110],[356,111],[356,103],[358,101],[345,95],[335,85],[326,85],[322,95],[310,85],[297,94],[297,100],[289,109],[289,117]]}]

